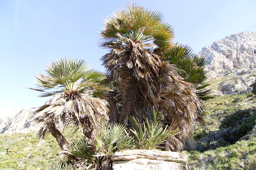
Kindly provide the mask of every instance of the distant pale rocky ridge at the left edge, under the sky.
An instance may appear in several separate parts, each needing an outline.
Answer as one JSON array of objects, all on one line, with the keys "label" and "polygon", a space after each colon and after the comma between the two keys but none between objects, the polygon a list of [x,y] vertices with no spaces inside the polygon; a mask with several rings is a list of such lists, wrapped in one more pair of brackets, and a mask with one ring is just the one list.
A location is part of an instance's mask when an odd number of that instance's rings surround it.
[{"label": "distant pale rocky ridge at the left edge, under the sky", "polygon": [[30,120],[33,113],[31,110],[22,109],[17,115],[5,117],[0,120],[0,133],[28,133],[31,130],[38,130],[38,124]]}]

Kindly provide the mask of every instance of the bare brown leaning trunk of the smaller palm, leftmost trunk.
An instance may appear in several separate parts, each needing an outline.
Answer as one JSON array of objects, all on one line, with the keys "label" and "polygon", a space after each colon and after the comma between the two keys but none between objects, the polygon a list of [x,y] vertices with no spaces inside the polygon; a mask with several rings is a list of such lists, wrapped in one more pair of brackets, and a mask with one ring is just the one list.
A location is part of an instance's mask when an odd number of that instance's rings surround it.
[{"label": "bare brown leaning trunk of the smaller palm, leftmost trunk", "polygon": [[[55,137],[56,141],[60,145],[60,148],[64,151],[68,149],[69,143],[66,140],[66,138],[60,133],[60,131],[57,129],[56,125],[53,123],[52,126],[50,127],[50,131],[53,137]],[[75,165],[75,163],[78,161],[76,157],[69,155],[67,157],[72,164]]]}]

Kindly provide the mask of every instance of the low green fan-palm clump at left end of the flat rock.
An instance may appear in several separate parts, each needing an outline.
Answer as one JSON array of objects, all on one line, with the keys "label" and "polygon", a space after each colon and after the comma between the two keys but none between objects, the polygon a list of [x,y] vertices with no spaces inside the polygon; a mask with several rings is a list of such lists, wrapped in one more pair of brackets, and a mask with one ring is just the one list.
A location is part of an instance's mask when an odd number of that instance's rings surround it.
[{"label": "low green fan-palm clump at left end of the flat rock", "polygon": [[76,164],[81,168],[110,170],[111,155],[133,147],[133,138],[129,136],[123,124],[107,122],[101,124],[94,138],[75,141],[62,153],[76,157]]}]

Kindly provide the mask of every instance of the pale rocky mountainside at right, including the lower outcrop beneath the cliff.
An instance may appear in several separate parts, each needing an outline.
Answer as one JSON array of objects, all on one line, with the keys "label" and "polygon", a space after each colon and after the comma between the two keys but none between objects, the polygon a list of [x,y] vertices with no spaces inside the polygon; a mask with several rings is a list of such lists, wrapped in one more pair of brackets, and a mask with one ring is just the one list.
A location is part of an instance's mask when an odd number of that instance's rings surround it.
[{"label": "pale rocky mountainside at right, including the lower outcrop beneath the cliff", "polygon": [[214,95],[251,92],[256,76],[256,33],[232,34],[204,47],[198,55],[205,58],[209,80],[216,79]]}]

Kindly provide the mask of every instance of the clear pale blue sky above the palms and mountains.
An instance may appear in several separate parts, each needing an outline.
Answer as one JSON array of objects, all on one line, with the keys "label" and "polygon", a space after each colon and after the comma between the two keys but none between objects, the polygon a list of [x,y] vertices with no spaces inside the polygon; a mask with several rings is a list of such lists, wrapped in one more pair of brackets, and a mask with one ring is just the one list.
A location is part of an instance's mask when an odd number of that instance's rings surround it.
[{"label": "clear pale blue sky above the palms and mountains", "polygon": [[[84,59],[104,71],[97,45],[103,19],[127,1],[0,0],[0,117],[44,104],[34,76],[60,56]],[[256,1],[134,1],[161,11],[175,31],[174,42],[196,53],[242,31],[256,32]]]}]

